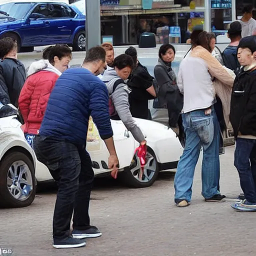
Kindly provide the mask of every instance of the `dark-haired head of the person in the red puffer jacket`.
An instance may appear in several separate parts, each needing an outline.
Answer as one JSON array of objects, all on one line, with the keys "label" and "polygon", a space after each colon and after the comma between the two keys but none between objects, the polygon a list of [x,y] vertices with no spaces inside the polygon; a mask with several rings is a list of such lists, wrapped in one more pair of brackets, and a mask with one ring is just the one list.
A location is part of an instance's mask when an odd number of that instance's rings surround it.
[{"label": "dark-haired head of the person in the red puffer jacket", "polygon": [[56,44],[50,48],[47,55],[49,62],[62,73],[68,68],[72,51],[66,44]]}]

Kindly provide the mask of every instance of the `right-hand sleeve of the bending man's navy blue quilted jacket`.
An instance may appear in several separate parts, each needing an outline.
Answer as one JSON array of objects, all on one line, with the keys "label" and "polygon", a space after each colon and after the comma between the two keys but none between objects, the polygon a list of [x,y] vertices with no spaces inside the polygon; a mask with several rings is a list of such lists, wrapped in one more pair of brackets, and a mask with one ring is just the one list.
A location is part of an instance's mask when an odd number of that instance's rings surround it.
[{"label": "right-hand sleeve of the bending man's navy blue quilted jacket", "polygon": [[113,131],[108,111],[108,90],[103,82],[93,84],[89,98],[89,109],[100,137],[102,139],[112,137]]}]

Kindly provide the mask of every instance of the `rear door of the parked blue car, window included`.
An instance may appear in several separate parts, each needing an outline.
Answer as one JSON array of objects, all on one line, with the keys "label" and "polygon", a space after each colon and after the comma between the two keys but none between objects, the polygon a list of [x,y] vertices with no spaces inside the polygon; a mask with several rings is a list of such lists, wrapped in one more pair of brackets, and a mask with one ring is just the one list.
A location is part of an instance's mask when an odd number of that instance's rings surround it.
[{"label": "rear door of the parked blue car, window included", "polygon": [[49,39],[54,43],[70,43],[76,12],[61,3],[49,3],[49,10]]}]

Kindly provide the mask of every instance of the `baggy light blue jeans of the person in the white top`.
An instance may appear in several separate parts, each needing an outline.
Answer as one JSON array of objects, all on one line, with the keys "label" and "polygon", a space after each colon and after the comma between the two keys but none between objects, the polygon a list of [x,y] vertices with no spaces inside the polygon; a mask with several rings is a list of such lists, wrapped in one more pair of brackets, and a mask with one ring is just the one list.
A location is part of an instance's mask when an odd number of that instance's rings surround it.
[{"label": "baggy light blue jeans of the person in the white top", "polygon": [[201,169],[202,196],[205,199],[219,194],[219,139],[220,129],[214,108],[205,115],[204,110],[182,114],[185,132],[185,147],[174,178],[175,202],[190,202],[195,165],[201,146],[203,159]]}]

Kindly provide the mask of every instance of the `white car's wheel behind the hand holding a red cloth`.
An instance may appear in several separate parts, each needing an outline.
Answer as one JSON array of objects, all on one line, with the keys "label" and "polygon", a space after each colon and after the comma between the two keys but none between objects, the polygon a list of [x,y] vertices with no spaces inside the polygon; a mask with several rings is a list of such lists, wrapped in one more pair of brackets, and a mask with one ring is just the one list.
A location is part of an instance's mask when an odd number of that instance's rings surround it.
[{"label": "white car's wheel behind the hand holding a red cloth", "polygon": [[151,186],[159,172],[158,162],[150,147],[147,147],[146,163],[142,171],[140,160],[134,154],[131,165],[120,172],[120,177],[128,186],[140,188]]}]

